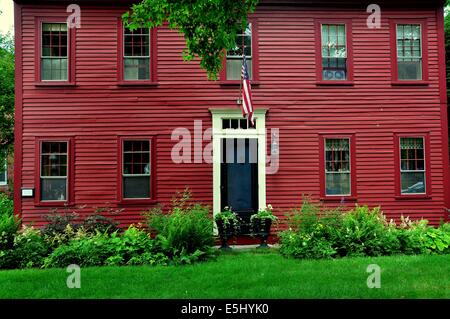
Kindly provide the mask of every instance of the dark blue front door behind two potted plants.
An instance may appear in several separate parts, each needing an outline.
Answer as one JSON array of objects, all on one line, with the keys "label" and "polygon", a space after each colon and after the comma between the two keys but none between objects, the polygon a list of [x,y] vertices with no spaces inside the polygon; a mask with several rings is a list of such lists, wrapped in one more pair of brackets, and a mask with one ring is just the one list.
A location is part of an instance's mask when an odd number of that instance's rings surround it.
[{"label": "dark blue front door behind two potted plants", "polygon": [[258,141],[223,139],[221,203],[244,221],[258,210]]}]

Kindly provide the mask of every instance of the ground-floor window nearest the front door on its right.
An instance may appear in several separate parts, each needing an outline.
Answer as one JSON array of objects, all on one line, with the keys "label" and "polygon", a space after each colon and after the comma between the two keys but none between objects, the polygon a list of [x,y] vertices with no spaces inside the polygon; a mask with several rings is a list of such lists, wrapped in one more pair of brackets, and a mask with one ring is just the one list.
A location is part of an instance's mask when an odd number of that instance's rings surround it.
[{"label": "ground-floor window nearest the front door on its right", "polygon": [[350,139],[325,139],[325,195],[351,195]]}]

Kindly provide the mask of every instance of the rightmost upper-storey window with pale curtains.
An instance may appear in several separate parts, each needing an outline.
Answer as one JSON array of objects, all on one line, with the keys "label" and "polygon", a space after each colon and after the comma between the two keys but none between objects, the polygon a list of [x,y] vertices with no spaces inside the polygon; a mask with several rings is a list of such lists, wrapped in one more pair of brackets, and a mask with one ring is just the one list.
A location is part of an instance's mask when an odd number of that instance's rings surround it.
[{"label": "rightmost upper-storey window with pale curtains", "polygon": [[422,80],[422,26],[397,24],[398,80]]}]

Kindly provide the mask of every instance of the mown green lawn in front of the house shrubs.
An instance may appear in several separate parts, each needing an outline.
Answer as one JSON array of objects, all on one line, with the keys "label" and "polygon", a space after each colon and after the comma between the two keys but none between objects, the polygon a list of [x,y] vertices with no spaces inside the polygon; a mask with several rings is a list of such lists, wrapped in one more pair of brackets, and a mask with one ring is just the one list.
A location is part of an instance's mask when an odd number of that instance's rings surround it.
[{"label": "mown green lawn in front of the house shrubs", "polygon": [[[369,264],[381,288],[366,284]],[[276,252],[234,252],[191,266],[0,271],[0,298],[450,298],[450,255],[292,260]]]}]

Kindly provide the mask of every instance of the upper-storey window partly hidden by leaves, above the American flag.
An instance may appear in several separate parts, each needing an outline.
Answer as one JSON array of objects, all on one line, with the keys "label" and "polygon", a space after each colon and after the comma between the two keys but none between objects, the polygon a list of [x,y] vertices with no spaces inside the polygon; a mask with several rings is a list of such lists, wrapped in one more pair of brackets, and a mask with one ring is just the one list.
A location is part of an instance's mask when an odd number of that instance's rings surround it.
[{"label": "upper-storey window partly hidden by leaves, above the American flag", "polygon": [[226,74],[227,80],[240,80],[242,73],[242,60],[247,60],[247,67],[250,79],[252,79],[252,24],[248,23],[247,28],[236,36],[235,47],[227,51]]}]

